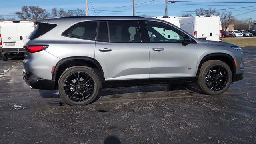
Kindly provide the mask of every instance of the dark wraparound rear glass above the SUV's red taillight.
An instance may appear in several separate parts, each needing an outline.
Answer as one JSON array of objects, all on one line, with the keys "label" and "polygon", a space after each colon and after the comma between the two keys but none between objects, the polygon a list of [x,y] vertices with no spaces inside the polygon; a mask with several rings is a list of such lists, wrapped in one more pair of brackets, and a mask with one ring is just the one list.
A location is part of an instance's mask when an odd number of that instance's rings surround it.
[{"label": "dark wraparound rear glass above the SUV's red taillight", "polygon": [[42,36],[46,32],[49,32],[50,30],[52,30],[55,26],[57,26],[56,24],[46,24],[46,23],[36,23],[36,25],[38,26],[28,36],[30,40],[38,38],[39,36]]}]

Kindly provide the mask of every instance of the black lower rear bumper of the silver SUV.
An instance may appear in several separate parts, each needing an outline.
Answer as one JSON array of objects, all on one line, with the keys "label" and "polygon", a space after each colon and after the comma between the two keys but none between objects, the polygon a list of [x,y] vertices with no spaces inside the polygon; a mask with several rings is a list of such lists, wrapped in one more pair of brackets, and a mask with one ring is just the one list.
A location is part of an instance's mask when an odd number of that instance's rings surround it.
[{"label": "black lower rear bumper of the silver SUV", "polygon": [[23,80],[28,84],[28,86],[36,89],[42,90],[56,90],[55,80],[45,80],[42,79],[31,72],[26,72],[23,70]]}]

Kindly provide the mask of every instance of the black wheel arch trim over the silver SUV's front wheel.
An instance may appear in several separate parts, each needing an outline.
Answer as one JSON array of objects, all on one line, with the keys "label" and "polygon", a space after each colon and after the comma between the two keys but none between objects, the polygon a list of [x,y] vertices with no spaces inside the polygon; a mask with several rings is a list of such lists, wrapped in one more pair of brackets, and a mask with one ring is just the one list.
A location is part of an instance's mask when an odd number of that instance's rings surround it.
[{"label": "black wheel arch trim over the silver SUV's front wheel", "polygon": [[234,58],[232,56],[230,56],[229,54],[225,54],[225,53],[212,53],[212,54],[207,54],[206,56],[204,56],[204,58],[202,58],[202,60],[200,61],[199,66],[198,66],[198,69],[197,69],[197,72],[196,72],[196,76],[199,76],[199,72],[200,72],[200,69],[202,67],[202,64],[204,62],[206,62],[209,58],[216,57],[216,56],[228,57],[229,60],[231,60],[232,66],[233,66],[231,70],[232,70],[233,74],[236,73],[236,66],[235,66]]}]

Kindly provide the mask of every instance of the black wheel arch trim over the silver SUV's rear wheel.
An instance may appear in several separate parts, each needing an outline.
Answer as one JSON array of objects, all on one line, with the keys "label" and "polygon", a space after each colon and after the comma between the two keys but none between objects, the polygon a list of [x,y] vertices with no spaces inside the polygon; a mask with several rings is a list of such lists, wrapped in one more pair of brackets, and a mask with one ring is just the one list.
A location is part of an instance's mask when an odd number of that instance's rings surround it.
[{"label": "black wheel arch trim over the silver SUV's rear wheel", "polygon": [[95,60],[94,58],[87,57],[87,56],[71,56],[71,57],[62,58],[61,60],[59,60],[57,62],[57,64],[55,65],[54,73],[52,74],[52,80],[56,80],[56,75],[57,75],[58,69],[62,66],[62,64],[65,64],[69,60],[85,60],[88,62],[92,62],[93,64],[95,64],[97,66],[97,68],[101,72],[102,81],[105,81],[104,72],[102,70],[100,63],[97,60]]}]

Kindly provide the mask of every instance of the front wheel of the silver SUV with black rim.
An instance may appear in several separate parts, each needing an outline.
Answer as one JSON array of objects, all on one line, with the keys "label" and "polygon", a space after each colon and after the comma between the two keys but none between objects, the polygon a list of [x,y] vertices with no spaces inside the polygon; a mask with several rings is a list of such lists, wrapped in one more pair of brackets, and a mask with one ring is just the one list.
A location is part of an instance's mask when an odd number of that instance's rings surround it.
[{"label": "front wheel of the silver SUV with black rim", "polygon": [[219,95],[230,87],[232,77],[232,71],[225,62],[209,60],[202,64],[197,84],[205,94]]}]

